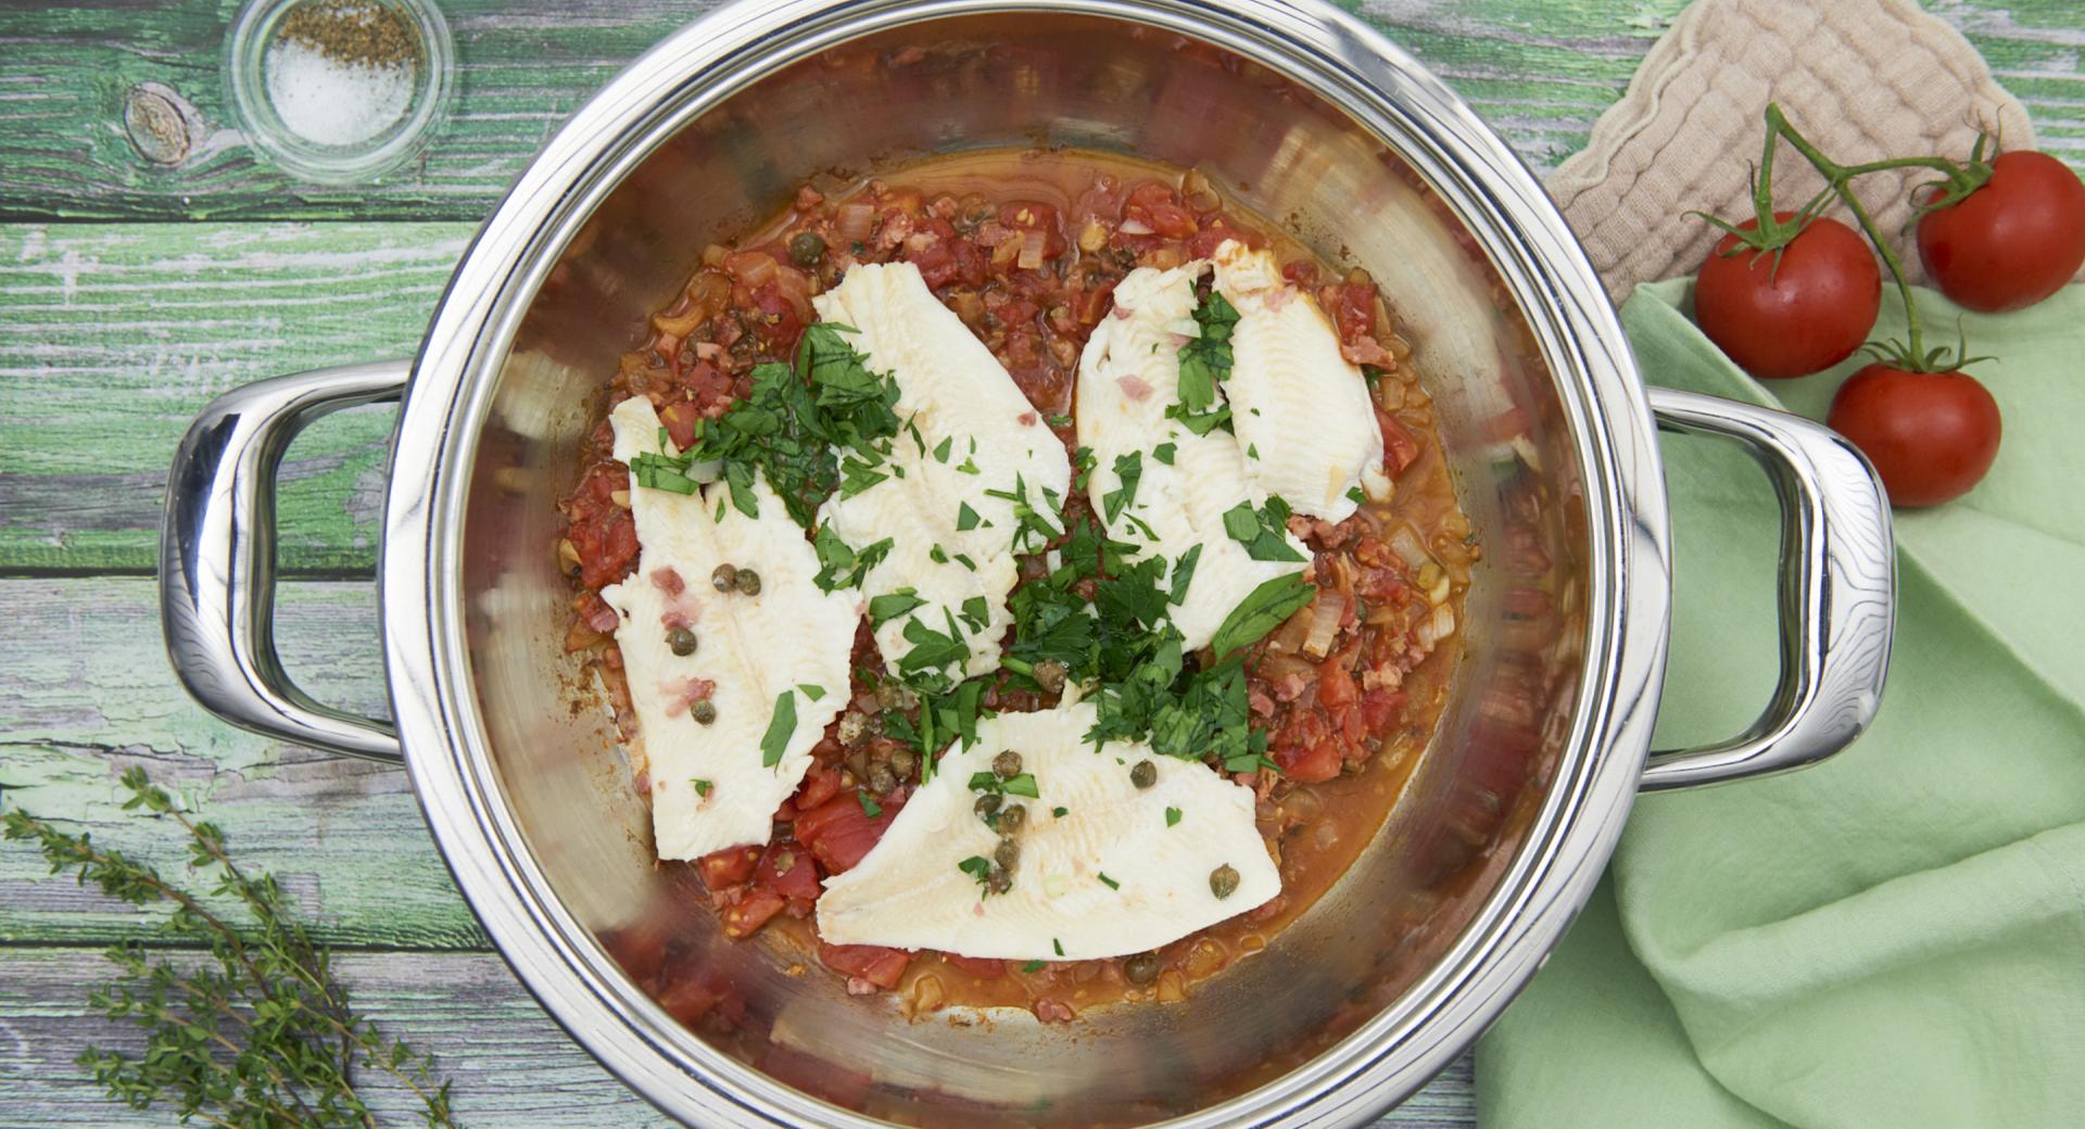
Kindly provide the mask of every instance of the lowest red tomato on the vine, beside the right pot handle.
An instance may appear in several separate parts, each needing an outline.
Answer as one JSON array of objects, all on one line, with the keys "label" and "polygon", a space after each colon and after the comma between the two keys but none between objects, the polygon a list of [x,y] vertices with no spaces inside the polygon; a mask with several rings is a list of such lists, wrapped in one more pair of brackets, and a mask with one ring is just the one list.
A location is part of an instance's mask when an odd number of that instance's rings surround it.
[{"label": "lowest red tomato on the vine, beside the right pot handle", "polygon": [[1868,365],[1831,400],[1824,423],[1874,462],[1893,506],[1939,506],[1997,458],[1997,400],[1964,373]]}]

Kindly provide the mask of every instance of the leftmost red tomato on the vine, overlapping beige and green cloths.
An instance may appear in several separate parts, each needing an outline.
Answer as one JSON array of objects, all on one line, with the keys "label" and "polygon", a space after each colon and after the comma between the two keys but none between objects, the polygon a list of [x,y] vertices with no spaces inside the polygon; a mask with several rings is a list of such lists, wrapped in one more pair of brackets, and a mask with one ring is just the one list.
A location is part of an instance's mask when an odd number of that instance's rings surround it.
[{"label": "leftmost red tomato on the vine, overlapping beige and green cloths", "polygon": [[1724,254],[1737,246],[1737,235],[1724,235],[1701,265],[1695,321],[1739,369],[1764,379],[1801,377],[1854,356],[1868,340],[1883,308],[1883,271],[1851,227],[1810,221],[1781,248],[1779,265],[1774,252]]}]

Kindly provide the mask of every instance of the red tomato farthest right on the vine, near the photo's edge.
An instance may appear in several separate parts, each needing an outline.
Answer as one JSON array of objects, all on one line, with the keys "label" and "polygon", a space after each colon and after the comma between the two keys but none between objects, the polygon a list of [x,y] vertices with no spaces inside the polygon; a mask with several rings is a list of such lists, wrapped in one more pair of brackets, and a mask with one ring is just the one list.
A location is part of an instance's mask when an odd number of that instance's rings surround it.
[{"label": "red tomato farthest right on the vine, near the photo's edge", "polygon": [[1918,258],[1962,306],[2033,306],[2085,262],[2085,183],[2045,152],[2002,152],[1983,187],[1920,217]]}]

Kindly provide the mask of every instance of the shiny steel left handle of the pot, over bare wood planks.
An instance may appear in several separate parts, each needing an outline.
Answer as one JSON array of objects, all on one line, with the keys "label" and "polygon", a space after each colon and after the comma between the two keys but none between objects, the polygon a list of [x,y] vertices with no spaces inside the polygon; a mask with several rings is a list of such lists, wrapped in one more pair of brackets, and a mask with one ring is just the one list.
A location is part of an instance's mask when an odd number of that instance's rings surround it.
[{"label": "shiny steel left handle of the pot, over bare wood planks", "polygon": [[317,369],[236,387],[202,408],[167,477],[158,612],[181,685],[238,725],[369,760],[400,762],[390,723],[321,706],[275,654],[275,469],[311,421],[396,400],[411,360]]}]

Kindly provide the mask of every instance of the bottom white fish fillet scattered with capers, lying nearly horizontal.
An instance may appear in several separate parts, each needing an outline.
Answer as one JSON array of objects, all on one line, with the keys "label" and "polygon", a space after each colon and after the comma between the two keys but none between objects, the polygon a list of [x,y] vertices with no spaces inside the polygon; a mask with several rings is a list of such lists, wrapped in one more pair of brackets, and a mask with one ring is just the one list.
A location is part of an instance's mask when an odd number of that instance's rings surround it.
[{"label": "bottom white fish fillet scattered with capers, lying nearly horizontal", "polygon": [[[978,744],[942,756],[934,779],[861,864],[826,879],[819,937],[978,958],[1084,960],[1176,942],[1280,894],[1249,789],[1143,744],[1109,742],[1095,752],[1084,744],[1093,721],[1090,704],[980,721]],[[1026,804],[1028,823],[1015,835],[1011,889],[986,898],[959,862],[990,858],[999,844],[972,808],[978,794],[970,779],[990,771],[1003,750],[1022,754],[1038,796],[1007,798]],[[1151,787],[1130,783],[1138,760],[1157,771]],[[1168,808],[1180,812],[1172,825]],[[1238,873],[1228,898],[1209,889],[1218,867]]]}]

